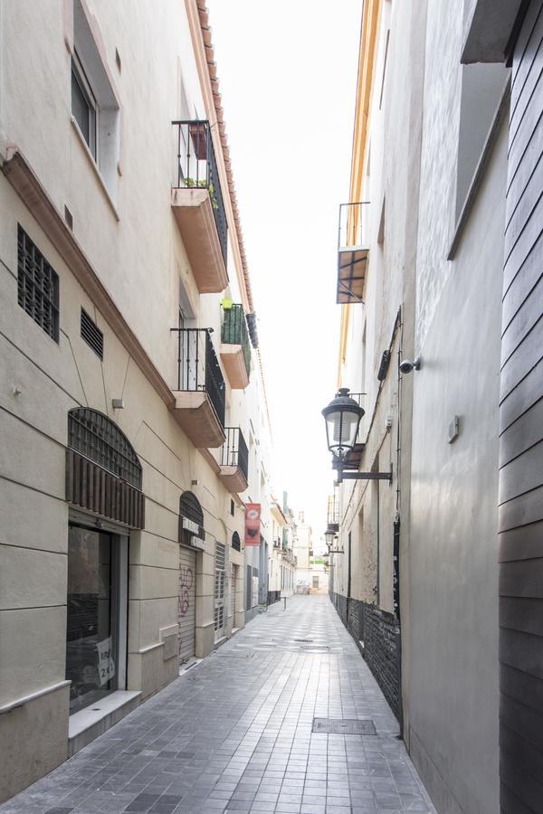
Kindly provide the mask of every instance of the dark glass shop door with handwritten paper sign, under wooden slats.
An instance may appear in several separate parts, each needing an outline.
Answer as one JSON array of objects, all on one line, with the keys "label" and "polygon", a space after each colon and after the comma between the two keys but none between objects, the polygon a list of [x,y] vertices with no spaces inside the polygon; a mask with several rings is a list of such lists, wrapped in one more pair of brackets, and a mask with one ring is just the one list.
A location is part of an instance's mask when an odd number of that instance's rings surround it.
[{"label": "dark glass shop door with handwritten paper sign, under wooden slats", "polygon": [[126,686],[128,537],[70,525],[66,678],[70,712]]}]

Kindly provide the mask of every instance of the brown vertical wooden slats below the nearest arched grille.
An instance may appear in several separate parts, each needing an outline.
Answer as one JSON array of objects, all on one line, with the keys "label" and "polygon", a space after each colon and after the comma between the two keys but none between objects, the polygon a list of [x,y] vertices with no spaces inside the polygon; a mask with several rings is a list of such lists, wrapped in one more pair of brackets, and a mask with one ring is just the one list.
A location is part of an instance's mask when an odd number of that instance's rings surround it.
[{"label": "brown vertical wooden slats below the nearest arched grille", "polygon": [[145,525],[143,492],[70,448],[66,450],[66,500],[130,528]]}]

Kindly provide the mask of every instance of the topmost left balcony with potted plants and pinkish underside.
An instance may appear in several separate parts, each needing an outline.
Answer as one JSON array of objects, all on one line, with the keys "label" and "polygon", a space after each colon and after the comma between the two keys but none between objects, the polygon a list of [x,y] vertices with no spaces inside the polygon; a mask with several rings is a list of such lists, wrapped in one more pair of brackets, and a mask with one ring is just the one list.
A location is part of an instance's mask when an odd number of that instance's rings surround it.
[{"label": "topmost left balcony with potted plants and pinkish underside", "polygon": [[172,209],[200,294],[228,285],[228,226],[208,121],[174,121],[176,177]]}]

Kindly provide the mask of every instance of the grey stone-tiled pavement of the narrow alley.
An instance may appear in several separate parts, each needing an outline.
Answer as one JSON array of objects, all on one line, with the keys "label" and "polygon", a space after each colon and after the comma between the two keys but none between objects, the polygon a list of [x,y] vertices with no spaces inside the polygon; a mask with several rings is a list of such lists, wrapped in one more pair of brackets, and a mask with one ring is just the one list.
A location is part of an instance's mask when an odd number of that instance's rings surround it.
[{"label": "grey stone-tiled pavement of the narrow alley", "polygon": [[[2,814],[433,812],[327,596],[278,603]],[[376,735],[313,733],[371,719]]]}]

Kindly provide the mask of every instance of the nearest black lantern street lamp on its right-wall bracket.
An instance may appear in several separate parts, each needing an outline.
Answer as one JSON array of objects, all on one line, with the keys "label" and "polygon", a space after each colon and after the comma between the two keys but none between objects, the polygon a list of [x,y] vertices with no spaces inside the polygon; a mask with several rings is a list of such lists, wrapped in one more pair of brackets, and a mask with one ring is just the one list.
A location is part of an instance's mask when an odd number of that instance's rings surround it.
[{"label": "nearest black lantern street lamp on its right-wall bracket", "polygon": [[349,396],[348,387],[340,387],[336,397],[322,411],[326,424],[328,448],[332,453],[332,467],[338,469],[338,483],[345,478],[350,480],[388,480],[390,472],[344,472],[348,453],[357,442],[358,427],[364,410]]}]

